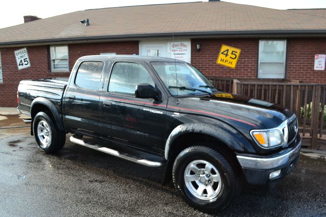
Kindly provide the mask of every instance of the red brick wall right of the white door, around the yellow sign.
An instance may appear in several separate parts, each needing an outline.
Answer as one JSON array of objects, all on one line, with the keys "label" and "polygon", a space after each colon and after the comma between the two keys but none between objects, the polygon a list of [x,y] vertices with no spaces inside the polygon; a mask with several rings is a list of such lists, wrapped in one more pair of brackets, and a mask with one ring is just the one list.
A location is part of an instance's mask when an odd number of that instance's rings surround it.
[{"label": "red brick wall right of the white door, around the yellow sign", "polygon": [[[196,49],[200,42],[200,52]],[[314,57],[326,53],[325,39],[290,38],[288,42],[287,76],[305,83],[326,83],[326,71],[314,71]],[[216,64],[222,44],[241,49],[235,69]],[[192,40],[192,64],[207,76],[256,78],[259,39]]]}]

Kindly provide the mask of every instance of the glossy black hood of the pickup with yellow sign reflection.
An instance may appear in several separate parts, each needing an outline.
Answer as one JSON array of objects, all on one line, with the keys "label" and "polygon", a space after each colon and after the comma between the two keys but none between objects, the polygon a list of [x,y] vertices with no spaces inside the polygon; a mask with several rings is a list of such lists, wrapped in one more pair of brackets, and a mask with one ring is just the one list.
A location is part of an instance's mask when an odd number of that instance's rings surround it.
[{"label": "glossy black hood of the pickup with yellow sign reflection", "polygon": [[219,117],[219,119],[228,119],[229,122],[235,123],[234,125],[239,122],[256,129],[277,127],[293,115],[293,112],[286,107],[230,93],[189,97],[180,101],[192,105],[194,110]]}]

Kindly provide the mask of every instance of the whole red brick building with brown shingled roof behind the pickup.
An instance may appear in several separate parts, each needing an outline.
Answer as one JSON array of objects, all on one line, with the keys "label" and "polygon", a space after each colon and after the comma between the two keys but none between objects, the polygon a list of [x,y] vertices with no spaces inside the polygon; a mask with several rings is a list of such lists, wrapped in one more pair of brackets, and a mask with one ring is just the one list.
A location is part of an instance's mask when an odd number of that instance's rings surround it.
[{"label": "whole red brick building with brown shingled roof behind the pickup", "polygon": [[[315,55],[326,53],[325,17],[326,9],[219,1],[26,16],[24,24],[0,29],[0,106],[16,106],[20,80],[68,77],[79,57],[100,53],[178,58],[208,76],[326,83],[326,72],[314,70]],[[222,44],[241,49],[235,69],[215,63]],[[31,66],[18,70],[21,48]]]}]

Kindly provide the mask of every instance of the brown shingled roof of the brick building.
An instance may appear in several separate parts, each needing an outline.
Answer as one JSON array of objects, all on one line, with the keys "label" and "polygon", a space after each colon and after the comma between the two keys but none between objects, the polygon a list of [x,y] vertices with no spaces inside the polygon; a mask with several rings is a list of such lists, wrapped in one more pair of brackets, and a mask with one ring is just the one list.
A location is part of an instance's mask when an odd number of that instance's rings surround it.
[{"label": "brown shingled roof of the brick building", "polygon": [[[0,45],[155,36],[326,34],[324,16],[227,2],[76,11],[0,29]],[[90,25],[79,23],[89,18]]]}]

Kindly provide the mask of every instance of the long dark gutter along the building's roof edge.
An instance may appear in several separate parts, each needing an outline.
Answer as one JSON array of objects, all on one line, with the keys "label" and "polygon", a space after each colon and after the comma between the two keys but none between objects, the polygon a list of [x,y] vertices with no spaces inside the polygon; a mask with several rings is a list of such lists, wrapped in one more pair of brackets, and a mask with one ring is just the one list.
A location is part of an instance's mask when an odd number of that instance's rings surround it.
[{"label": "long dark gutter along the building's roof edge", "polygon": [[[214,32],[180,32],[180,33],[149,33],[149,34],[128,34],[128,35],[108,35],[90,37],[71,37],[55,39],[38,39],[26,41],[0,42],[0,47],[13,47],[13,45],[41,45],[70,43],[90,43],[104,41],[126,41],[143,40],[146,38],[275,38],[275,37],[326,37],[326,30],[267,30],[267,31],[214,31]],[[9,46],[8,46],[9,45]]]}]

